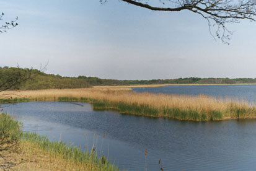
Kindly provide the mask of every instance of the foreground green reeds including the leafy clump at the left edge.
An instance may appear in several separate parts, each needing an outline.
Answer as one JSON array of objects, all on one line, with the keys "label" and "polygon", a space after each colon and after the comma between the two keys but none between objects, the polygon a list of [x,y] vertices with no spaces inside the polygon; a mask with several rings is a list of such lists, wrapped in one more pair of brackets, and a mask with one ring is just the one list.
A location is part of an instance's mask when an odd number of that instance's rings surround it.
[{"label": "foreground green reeds including the leafy clump at the left edge", "polygon": [[[112,164],[105,156],[97,155],[94,149],[87,149],[82,152],[80,148],[71,146],[63,141],[50,141],[46,136],[39,136],[36,133],[22,132],[20,123],[15,121],[6,113],[0,114],[0,150],[9,150],[10,147],[19,147],[19,142],[29,143],[31,147],[35,144],[43,151],[81,165],[83,168],[91,167],[91,170],[115,171],[118,167]],[[8,147],[8,148],[7,148]],[[20,147],[19,147],[20,148]],[[19,149],[18,148],[18,149]],[[88,166],[89,165],[89,166]],[[90,169],[89,169],[90,170]]]}]

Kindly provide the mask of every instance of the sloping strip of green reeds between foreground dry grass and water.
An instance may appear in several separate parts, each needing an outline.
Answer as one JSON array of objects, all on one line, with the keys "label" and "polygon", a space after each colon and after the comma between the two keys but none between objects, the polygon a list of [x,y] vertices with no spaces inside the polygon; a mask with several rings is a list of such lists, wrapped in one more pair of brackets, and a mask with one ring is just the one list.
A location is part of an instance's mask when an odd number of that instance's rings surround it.
[{"label": "sloping strip of green reeds between foreground dry grass and water", "polygon": [[105,156],[99,157],[94,148],[84,149],[83,151],[80,147],[73,147],[63,141],[50,141],[46,136],[40,136],[36,133],[21,133],[20,138],[22,141],[36,145],[37,148],[43,151],[50,152],[53,157],[58,157],[80,165],[79,170],[119,170],[118,167],[111,164]]}]

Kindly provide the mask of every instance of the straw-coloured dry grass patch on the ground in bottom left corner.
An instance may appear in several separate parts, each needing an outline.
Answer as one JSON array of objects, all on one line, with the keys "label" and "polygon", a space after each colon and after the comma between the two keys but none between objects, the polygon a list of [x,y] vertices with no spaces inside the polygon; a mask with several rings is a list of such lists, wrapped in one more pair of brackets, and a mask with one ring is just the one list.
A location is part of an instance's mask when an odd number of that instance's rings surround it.
[{"label": "straw-coloured dry grass patch on the ground in bottom left corner", "polygon": [[74,162],[43,150],[36,143],[20,141],[19,151],[0,152],[0,170],[99,170],[97,165]]}]

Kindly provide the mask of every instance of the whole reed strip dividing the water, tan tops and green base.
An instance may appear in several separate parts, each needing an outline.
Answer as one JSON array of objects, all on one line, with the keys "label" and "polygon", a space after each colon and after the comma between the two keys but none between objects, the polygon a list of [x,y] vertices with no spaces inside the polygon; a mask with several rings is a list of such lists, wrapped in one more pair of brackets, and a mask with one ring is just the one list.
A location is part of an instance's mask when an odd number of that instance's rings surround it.
[{"label": "whole reed strip dividing the water, tan tops and green base", "polygon": [[[127,87],[94,87],[89,89],[53,89],[5,92],[14,94],[10,102],[25,100],[59,100],[90,102],[97,110],[117,110],[134,115],[179,120],[225,120],[256,118],[256,107],[245,100],[214,98],[206,95],[167,95],[131,92]],[[0,94],[0,97],[3,97]],[[17,99],[15,99],[17,98]],[[4,101],[4,99],[2,99]]]}]

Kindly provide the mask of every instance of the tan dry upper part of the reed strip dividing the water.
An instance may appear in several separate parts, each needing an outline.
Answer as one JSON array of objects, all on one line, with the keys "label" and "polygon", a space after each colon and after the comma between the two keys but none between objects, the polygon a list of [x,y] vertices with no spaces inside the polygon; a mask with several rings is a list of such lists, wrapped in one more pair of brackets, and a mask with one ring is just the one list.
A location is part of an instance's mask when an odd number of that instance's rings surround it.
[{"label": "tan dry upper part of the reed strip dividing the water", "polygon": [[[126,86],[98,86],[87,89],[50,89],[50,90],[26,90],[9,91],[3,94],[11,94],[14,97],[26,97],[29,99],[58,100],[59,97],[81,98],[86,97],[95,100],[108,100],[109,102],[123,102],[126,104],[148,105],[150,108],[179,108],[179,110],[193,110],[198,113],[221,112],[221,119],[236,118],[238,112],[247,112],[243,118],[255,118],[255,105],[245,100],[216,99],[206,95],[167,95],[131,92]],[[163,116],[158,113],[157,116]]]}]

